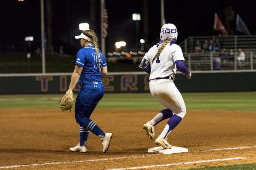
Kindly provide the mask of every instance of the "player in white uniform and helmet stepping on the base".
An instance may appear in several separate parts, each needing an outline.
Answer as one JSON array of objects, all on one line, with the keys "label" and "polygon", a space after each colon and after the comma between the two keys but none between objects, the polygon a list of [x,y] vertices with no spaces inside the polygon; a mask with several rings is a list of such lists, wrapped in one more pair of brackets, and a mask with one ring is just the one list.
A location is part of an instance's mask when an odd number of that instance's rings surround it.
[{"label": "player in white uniform and helmet stepping on the base", "polygon": [[144,68],[149,76],[149,89],[152,96],[166,109],[160,111],[151,121],[143,127],[147,135],[155,139],[154,126],[160,121],[170,118],[162,133],[156,138],[155,143],[166,149],[172,148],[167,135],[173,130],[186,114],[183,98],[173,83],[176,70],[180,70],[187,78],[191,78],[190,71],[183,64],[183,54],[180,46],[175,44],[178,32],[173,24],[164,24],[161,28],[161,41],[153,46],[143,57],[139,67]]}]

